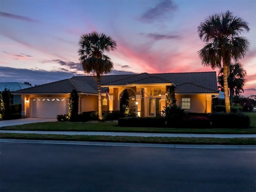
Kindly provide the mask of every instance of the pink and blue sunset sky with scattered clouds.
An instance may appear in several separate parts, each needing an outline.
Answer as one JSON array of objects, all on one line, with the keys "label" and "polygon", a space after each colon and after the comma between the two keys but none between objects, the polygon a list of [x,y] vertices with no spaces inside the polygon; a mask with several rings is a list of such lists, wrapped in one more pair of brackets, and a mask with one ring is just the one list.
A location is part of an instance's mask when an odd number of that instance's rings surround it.
[{"label": "pink and blue sunset sky with scattered clouds", "polygon": [[85,75],[78,56],[82,34],[116,41],[106,53],[111,74],[216,71],[202,65],[197,28],[229,10],[248,22],[250,41],[240,60],[242,95],[256,95],[255,0],[0,0],[0,82],[33,86]]}]

